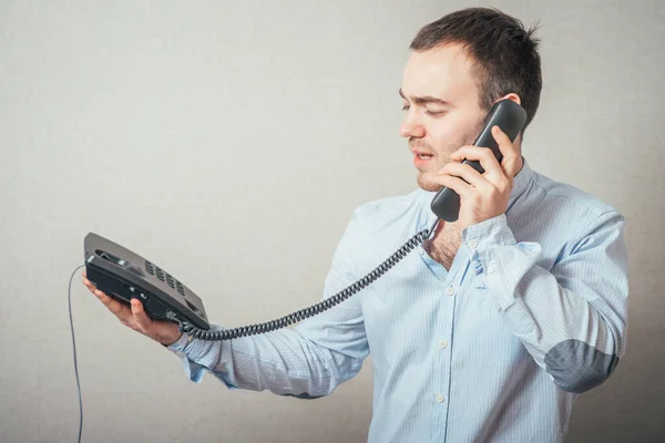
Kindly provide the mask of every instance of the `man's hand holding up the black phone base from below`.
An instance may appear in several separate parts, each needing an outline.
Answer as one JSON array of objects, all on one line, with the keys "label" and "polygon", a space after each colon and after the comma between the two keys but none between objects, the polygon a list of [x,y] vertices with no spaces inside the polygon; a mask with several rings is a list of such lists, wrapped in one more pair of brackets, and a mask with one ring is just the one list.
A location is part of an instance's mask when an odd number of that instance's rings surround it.
[{"label": "man's hand holding up the black phone base from below", "polygon": [[85,285],[88,289],[104,303],[106,309],[117,317],[120,322],[127,328],[132,328],[136,332],[141,332],[165,346],[175,343],[182,337],[182,332],[177,328],[177,324],[172,323],[171,321],[153,320],[147,317],[143,309],[143,305],[137,299],[132,299],[130,308],[96,289],[86,278],[85,270],[83,270],[83,285]]}]

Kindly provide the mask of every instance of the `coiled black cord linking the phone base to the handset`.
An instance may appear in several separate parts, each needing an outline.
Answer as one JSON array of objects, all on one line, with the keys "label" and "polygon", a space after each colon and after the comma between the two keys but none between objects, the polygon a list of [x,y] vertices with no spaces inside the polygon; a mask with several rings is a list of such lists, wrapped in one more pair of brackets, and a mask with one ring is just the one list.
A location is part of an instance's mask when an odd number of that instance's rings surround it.
[{"label": "coiled black cord linking the phone base to the handset", "polygon": [[437,229],[437,225],[439,224],[439,219],[437,219],[432,227],[429,229],[423,229],[411,237],[402,247],[400,247],[397,251],[395,251],[388,259],[386,259],[382,264],[380,264],[377,268],[375,268],[371,272],[356,281],[355,284],[348,286],[346,289],[337,292],[335,296],[329,297],[314,306],[310,306],[305,309],[300,309],[299,311],[289,313],[288,316],[282,317],[277,320],[266,321],[264,323],[257,324],[248,324],[233,329],[224,329],[221,331],[206,330],[194,327],[192,323],[187,321],[181,321],[175,315],[168,312],[166,315],[167,318],[175,321],[178,324],[180,331],[186,333],[190,337],[209,341],[223,341],[223,340],[232,340],[239,337],[249,337],[259,333],[275,331],[277,329],[286,328],[293,323],[296,323],[300,320],[307,319],[309,317],[316,316],[334,306],[345,301],[356,292],[365,289],[367,286],[372,284],[383,274],[386,274],[390,268],[392,268],[399,260],[405,258],[407,254],[413,250],[418,245],[422,244],[426,239],[428,239],[431,234]]}]

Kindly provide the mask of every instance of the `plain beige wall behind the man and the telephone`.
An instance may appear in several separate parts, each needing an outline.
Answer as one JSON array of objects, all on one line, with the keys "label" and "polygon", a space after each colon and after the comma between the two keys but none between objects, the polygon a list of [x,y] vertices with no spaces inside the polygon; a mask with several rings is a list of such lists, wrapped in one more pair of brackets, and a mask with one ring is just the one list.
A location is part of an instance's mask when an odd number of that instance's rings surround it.
[{"label": "plain beige wall behind the man and the telephone", "polygon": [[[463,1],[1,1],[0,441],[71,442],[66,287],[95,231],[226,326],[317,301],[359,204],[416,186],[397,91],[416,31]],[[661,1],[495,1],[541,22],[532,166],[627,217],[628,349],[570,442],[663,432]],[[317,401],[186,380],[72,291],[88,442],[361,442],[371,359]]]}]

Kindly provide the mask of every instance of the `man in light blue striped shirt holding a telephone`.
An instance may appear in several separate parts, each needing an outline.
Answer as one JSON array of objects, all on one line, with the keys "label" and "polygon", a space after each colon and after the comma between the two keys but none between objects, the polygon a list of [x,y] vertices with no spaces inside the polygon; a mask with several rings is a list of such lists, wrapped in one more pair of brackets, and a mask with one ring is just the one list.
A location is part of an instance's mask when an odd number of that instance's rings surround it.
[{"label": "man in light blue striped shirt holding a telephone", "polygon": [[[374,269],[436,220],[442,186],[460,218],[379,280],[295,328],[224,342],[191,340],[88,280],[120,320],[168,346],[187,375],[229,388],[318,398],[358,373],[371,350],[370,442],[560,442],[575,398],[624,354],[624,219],[532,171],[514,143],[469,146],[491,105],[513,100],[532,121],[541,92],[538,41],[494,9],[467,9],[420,30],[400,95],[419,189],[359,207],[332,257],[324,297]],[[479,174],[462,165],[480,161]]]}]

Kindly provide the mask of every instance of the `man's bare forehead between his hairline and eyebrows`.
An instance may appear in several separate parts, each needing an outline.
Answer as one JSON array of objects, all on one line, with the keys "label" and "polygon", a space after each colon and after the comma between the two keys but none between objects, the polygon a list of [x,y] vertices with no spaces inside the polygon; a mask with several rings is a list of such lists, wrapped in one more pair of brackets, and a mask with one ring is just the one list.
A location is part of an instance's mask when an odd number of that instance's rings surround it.
[{"label": "man's bare forehead between his hairline and eyebrows", "polygon": [[460,44],[413,51],[407,61],[402,91],[407,96],[431,95],[452,103],[475,101],[473,62]]}]

